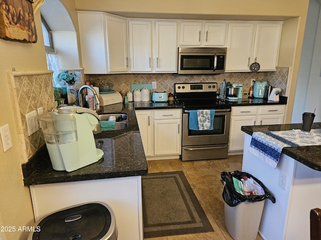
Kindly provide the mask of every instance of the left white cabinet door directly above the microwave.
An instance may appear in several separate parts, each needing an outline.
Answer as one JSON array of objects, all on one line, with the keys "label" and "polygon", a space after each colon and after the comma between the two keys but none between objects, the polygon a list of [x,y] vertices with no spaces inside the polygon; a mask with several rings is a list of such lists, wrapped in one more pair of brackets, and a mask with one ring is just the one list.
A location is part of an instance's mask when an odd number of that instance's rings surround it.
[{"label": "left white cabinet door directly above the microwave", "polygon": [[180,45],[200,46],[201,45],[202,22],[181,22],[180,23]]}]

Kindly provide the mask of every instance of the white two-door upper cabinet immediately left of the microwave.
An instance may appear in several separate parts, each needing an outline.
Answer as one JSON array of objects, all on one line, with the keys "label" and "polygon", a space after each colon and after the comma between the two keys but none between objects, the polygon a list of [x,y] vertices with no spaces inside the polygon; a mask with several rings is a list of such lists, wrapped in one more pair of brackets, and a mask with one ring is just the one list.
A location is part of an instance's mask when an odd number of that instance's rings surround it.
[{"label": "white two-door upper cabinet immediately left of the microwave", "polygon": [[129,20],[130,72],[177,72],[177,22]]}]

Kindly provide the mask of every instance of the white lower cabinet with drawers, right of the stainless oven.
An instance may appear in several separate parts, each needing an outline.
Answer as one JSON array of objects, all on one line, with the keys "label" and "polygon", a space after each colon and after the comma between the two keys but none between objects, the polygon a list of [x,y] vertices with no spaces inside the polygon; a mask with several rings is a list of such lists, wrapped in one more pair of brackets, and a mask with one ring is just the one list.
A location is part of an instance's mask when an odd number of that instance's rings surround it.
[{"label": "white lower cabinet with drawers, right of the stainless oven", "polygon": [[282,124],[285,105],[233,106],[229,152],[243,151],[245,132],[242,126]]}]

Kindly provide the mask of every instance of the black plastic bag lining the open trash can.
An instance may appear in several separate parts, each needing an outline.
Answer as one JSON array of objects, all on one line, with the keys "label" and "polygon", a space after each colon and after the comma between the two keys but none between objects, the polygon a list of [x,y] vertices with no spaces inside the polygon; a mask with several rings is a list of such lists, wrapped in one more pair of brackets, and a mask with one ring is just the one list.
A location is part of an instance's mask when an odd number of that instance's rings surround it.
[{"label": "black plastic bag lining the open trash can", "polygon": [[[243,178],[243,176],[252,177],[264,190],[264,195],[242,195],[241,193],[237,192],[234,183],[233,178],[235,177],[239,180]],[[224,189],[223,189],[223,199],[229,206],[236,206],[240,204],[243,201],[247,202],[255,202],[255,201],[262,201],[264,199],[270,199],[273,203],[275,203],[274,196],[271,195],[271,193],[268,191],[266,186],[256,177],[252,176],[251,174],[244,172],[244,171],[238,171],[235,170],[234,172],[221,172],[221,178],[225,182]]]}]

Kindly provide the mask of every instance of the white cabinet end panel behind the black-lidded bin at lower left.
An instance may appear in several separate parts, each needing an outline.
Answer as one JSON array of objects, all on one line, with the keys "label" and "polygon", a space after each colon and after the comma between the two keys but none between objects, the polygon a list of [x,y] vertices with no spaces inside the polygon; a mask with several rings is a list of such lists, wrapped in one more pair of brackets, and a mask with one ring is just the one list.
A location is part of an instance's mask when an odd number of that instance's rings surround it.
[{"label": "white cabinet end panel behind the black-lidded bin at lower left", "polygon": [[115,213],[118,240],[142,240],[141,176],[30,186],[35,220],[73,205],[105,202]]}]

